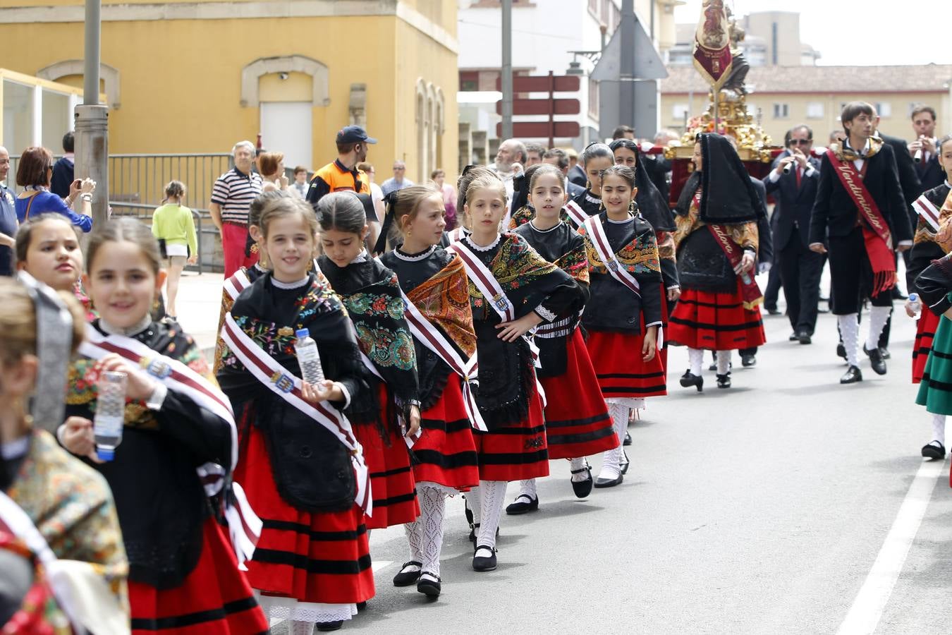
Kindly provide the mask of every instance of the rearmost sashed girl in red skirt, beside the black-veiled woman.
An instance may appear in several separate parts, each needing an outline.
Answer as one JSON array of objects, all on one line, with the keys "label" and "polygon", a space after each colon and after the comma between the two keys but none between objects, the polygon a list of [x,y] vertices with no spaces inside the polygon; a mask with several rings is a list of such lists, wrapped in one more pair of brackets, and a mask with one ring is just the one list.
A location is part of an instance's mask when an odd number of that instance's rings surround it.
[{"label": "rearmost sashed girl in red skirt, beside the black-veiled woman", "polygon": [[644,407],[645,397],[667,394],[657,354],[664,302],[658,244],[654,228],[631,211],[637,193],[632,169],[605,169],[605,210],[579,229],[591,279],[582,316],[585,344],[620,444],[605,452],[596,487],[617,486],[624,479],[628,460],[621,443],[629,408]]}]

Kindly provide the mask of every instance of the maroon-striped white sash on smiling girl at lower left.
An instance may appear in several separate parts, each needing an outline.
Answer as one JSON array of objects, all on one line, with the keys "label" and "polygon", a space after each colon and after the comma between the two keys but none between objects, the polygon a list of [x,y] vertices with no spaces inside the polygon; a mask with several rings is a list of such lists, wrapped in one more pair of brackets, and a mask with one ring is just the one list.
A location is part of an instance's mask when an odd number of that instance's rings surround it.
[{"label": "maroon-striped white sash on smiling girl at lower left", "polygon": [[[231,402],[225,393],[182,362],[160,355],[138,340],[124,335],[103,335],[90,325],[86,327],[86,339],[79,347],[80,354],[100,360],[109,353],[116,353],[142,367],[153,380],[161,382],[172,392],[186,395],[200,407],[228,422],[231,431],[231,465],[226,469],[216,463],[206,463],[195,469],[206,495],[211,497],[218,494],[227,483],[226,477],[238,464],[238,428],[235,426]],[[244,563],[251,559],[261,535],[262,522],[248,503],[242,486],[232,483],[230,493],[234,496],[234,505],[226,493],[225,518],[238,566],[245,570]]]}]

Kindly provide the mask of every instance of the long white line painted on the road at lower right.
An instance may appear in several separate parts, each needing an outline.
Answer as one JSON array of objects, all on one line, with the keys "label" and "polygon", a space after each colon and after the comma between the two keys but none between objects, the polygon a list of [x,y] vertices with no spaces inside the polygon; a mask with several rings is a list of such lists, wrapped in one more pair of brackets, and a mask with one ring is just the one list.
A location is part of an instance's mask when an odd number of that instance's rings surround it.
[{"label": "long white line painted on the road at lower right", "polygon": [[839,635],[865,635],[876,631],[944,466],[944,461],[922,462],[873,568],[837,631]]}]

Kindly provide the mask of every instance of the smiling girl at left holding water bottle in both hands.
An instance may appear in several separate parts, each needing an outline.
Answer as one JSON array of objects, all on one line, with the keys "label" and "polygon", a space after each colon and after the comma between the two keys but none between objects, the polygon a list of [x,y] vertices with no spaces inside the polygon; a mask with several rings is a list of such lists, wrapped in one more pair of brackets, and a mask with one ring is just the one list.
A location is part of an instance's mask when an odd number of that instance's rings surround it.
[{"label": "smiling girl at left holding water bottle in both hands", "polygon": [[[212,473],[228,482],[235,447],[227,400],[194,341],[174,323],[152,321],[164,280],[158,245],[135,219],[111,220],[91,235],[84,282],[99,319],[69,366],[70,416],[57,436],[112,489],[129,555],[133,633],[158,625],[166,633],[265,632],[216,518],[222,501],[203,484]],[[109,429],[109,415],[123,426]],[[224,467],[200,476],[196,467],[211,464]]]}]

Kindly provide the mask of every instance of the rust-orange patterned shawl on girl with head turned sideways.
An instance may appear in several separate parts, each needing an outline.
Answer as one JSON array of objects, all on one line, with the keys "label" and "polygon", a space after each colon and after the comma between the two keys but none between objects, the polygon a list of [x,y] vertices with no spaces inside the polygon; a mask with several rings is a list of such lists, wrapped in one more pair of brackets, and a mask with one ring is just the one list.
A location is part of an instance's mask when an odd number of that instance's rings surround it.
[{"label": "rust-orange patterned shawl on girl with head turned sideways", "polygon": [[454,255],[446,267],[407,293],[407,298],[467,357],[472,357],[476,352],[476,333],[468,286],[463,261]]}]

